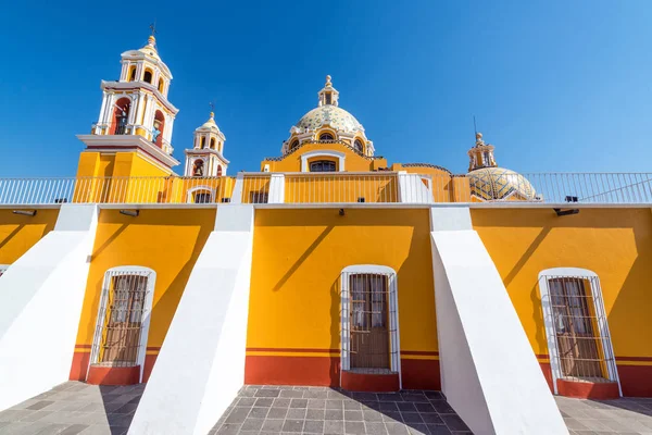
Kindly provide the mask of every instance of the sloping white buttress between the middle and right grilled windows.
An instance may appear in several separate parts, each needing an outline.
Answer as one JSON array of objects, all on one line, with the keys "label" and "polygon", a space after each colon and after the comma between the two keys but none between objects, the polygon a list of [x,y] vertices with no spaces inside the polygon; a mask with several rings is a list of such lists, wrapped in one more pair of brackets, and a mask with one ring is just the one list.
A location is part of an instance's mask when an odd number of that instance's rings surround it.
[{"label": "sloping white buttress between the middle and right grilled windows", "polygon": [[568,434],[498,270],[465,213],[431,213],[441,389],[476,435]]}]

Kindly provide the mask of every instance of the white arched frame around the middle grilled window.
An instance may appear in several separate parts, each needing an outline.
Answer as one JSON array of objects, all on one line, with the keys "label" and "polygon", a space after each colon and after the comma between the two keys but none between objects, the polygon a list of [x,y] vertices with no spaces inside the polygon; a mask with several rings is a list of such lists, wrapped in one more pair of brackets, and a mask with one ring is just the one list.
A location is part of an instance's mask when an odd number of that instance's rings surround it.
[{"label": "white arched frame around the middle grilled window", "polygon": [[377,264],[356,264],[342,269],[340,273],[340,386],[343,371],[351,370],[351,320],[350,320],[350,289],[347,276],[352,274],[378,274],[387,275],[387,285],[389,290],[389,369],[399,373],[399,388],[403,387],[401,374],[401,334],[399,331],[399,297],[397,272],[386,265]]}]

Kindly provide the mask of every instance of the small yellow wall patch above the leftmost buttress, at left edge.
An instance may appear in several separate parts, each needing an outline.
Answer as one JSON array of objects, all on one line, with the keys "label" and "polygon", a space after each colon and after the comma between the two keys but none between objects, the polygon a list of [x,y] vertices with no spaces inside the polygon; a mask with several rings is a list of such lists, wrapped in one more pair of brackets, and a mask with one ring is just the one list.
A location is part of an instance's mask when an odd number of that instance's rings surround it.
[{"label": "small yellow wall patch above the leftmost buttress, at left edge", "polygon": [[39,209],[35,216],[0,210],[0,264],[12,264],[54,229],[59,209]]}]

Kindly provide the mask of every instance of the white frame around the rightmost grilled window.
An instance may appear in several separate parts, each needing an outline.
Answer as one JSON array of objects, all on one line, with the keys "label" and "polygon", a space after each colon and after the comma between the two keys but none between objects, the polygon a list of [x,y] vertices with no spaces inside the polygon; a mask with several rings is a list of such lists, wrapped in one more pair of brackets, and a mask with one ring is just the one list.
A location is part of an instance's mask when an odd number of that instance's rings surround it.
[{"label": "white frame around the rightmost grilled window", "polygon": [[[623,396],[623,389],[620,388],[620,378],[618,377],[618,370],[615,366],[615,353],[611,340],[611,333],[609,331],[609,321],[606,320],[606,311],[604,309],[604,302],[602,299],[602,286],[600,285],[600,278],[595,272],[587,269],[579,268],[553,268],[547,269],[539,272],[539,295],[541,296],[541,307],[543,309],[543,325],[546,328],[546,338],[548,340],[548,357],[550,360],[550,371],[552,373],[552,387],[554,394],[557,394],[556,381],[562,378],[562,368],[560,366],[559,346],[556,340],[556,334],[554,332],[554,319],[552,312],[552,306],[550,301],[550,290],[548,281],[554,278],[587,278],[589,284],[589,290],[593,299],[594,312],[604,312],[604,322],[598,322],[598,328],[600,331],[600,337],[602,337],[602,349],[603,352],[611,352],[614,356],[614,364],[606,364],[607,374],[610,381],[618,383],[618,391]],[[595,284],[595,285],[594,285]],[[599,307],[602,304],[602,307]]]}]

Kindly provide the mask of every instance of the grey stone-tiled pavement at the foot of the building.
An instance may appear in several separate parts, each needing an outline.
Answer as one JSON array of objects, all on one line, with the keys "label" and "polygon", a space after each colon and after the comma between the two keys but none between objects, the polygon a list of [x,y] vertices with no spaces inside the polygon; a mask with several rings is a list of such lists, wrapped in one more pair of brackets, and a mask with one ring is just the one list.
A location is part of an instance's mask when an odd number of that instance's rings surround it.
[{"label": "grey stone-tiled pavement at the foot of the building", "polygon": [[[123,435],[143,388],[68,382],[0,412],[0,434]],[[652,435],[652,398],[555,400],[572,435]],[[215,420],[211,434],[471,434],[438,391],[246,386]]]}]

